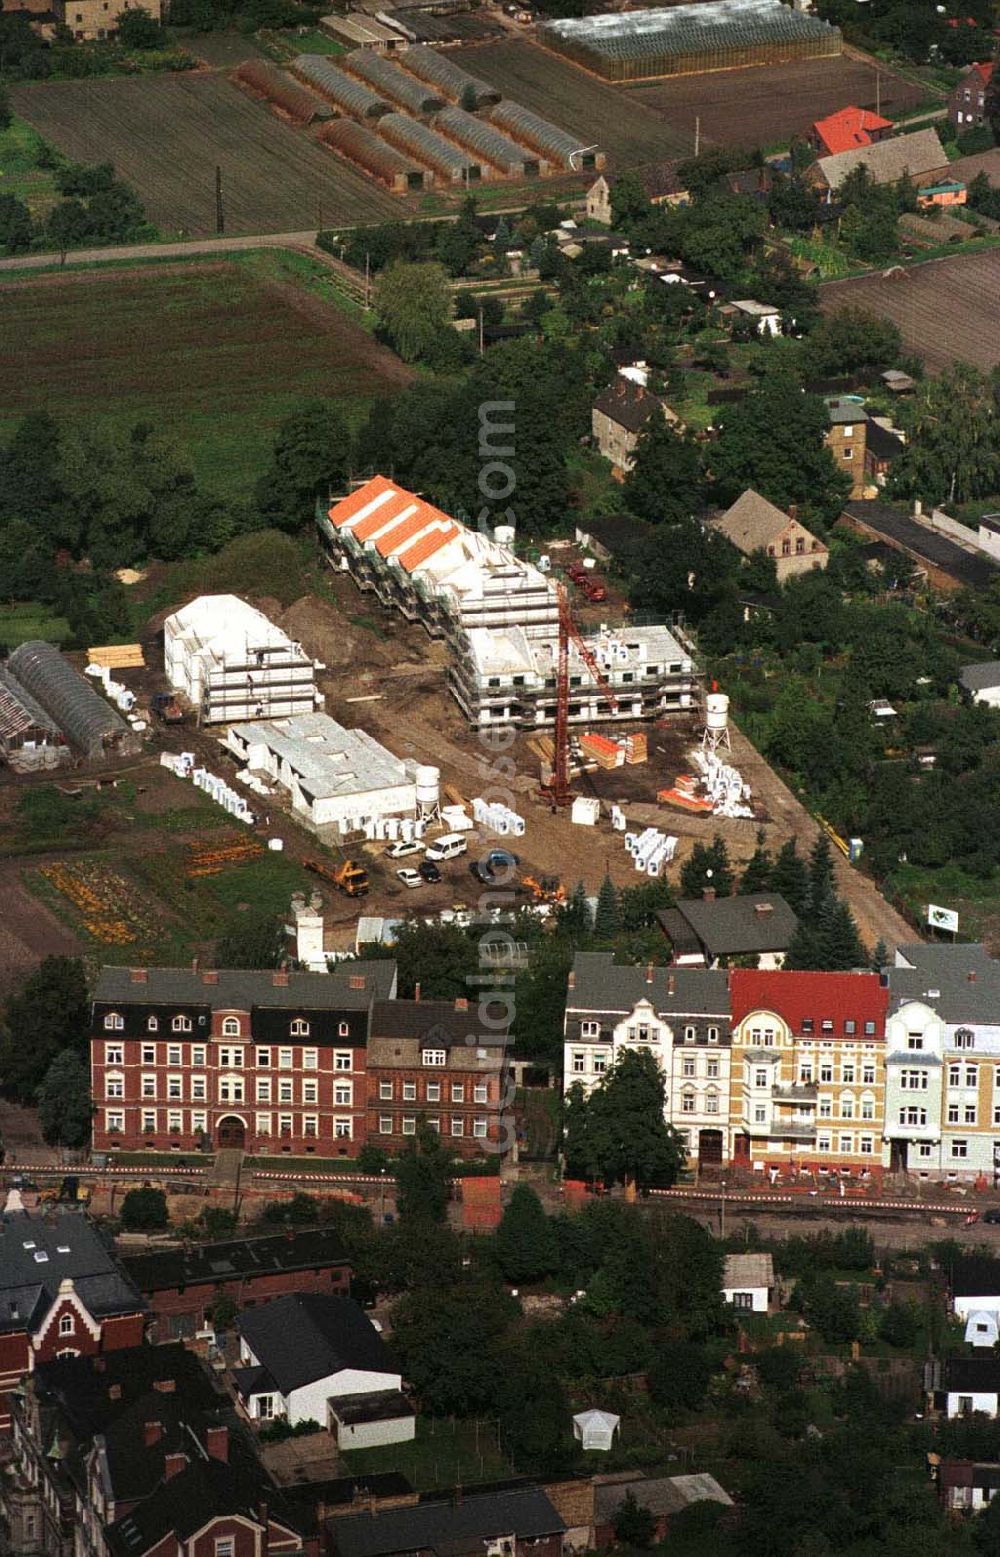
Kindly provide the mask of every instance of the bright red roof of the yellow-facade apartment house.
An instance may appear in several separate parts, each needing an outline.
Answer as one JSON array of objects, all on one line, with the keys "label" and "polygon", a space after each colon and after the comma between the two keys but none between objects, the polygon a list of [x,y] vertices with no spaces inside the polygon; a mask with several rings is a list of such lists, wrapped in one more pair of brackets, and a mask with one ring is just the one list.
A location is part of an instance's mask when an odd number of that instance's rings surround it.
[{"label": "bright red roof of the yellow-facade apartment house", "polygon": [[[833,1028],[826,1037],[843,1037],[844,1023],[854,1021],[854,1037],[872,1037],[864,1023],[874,1021],[874,1037],[885,1037],[889,992],[877,973],[793,973],[734,968],[729,975],[734,1025],[754,1010],[773,1010],[793,1032],[812,1031],[824,1037],[824,1021]],[[812,1029],[804,1025],[812,1021]]]}]

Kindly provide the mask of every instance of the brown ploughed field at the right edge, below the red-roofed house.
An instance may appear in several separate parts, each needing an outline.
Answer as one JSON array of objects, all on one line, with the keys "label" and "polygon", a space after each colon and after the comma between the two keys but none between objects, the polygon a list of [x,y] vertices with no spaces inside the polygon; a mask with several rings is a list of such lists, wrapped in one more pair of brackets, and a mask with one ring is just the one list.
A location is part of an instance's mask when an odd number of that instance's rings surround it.
[{"label": "brown ploughed field at the right edge, below the red-roofed house", "polygon": [[907,350],[922,357],[931,372],[955,361],[983,369],[1000,363],[1000,249],[928,260],[891,279],[872,274],[832,282],[819,296],[824,310],[850,304],[894,319]]}]

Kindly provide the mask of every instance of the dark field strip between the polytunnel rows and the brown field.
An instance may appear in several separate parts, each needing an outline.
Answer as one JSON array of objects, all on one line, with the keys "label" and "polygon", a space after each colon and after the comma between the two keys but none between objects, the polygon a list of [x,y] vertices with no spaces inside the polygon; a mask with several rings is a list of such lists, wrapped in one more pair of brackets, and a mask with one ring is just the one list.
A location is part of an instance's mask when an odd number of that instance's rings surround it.
[{"label": "dark field strip between the polytunnel rows and the brown field", "polygon": [[611,168],[660,162],[690,151],[688,137],[645,103],[621,101],[618,87],[598,81],[526,37],[450,53],[463,70],[497,86],[505,97],[598,145]]}]

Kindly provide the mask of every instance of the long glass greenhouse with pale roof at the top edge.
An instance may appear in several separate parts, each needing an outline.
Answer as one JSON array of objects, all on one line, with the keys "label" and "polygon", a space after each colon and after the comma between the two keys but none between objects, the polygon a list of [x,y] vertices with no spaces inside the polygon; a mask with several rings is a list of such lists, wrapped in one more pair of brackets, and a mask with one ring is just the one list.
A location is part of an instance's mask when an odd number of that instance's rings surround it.
[{"label": "long glass greenhouse with pale roof at the top edge", "polygon": [[567,17],[539,28],[539,42],[606,81],[779,65],[843,50],[838,26],[782,0],[707,0]]}]

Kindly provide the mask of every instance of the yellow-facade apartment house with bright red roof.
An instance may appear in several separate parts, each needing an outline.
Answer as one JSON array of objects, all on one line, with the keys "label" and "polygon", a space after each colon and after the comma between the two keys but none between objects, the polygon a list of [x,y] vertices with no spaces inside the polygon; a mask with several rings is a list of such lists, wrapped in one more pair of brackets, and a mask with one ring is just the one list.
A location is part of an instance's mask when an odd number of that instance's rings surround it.
[{"label": "yellow-facade apartment house with bright red roof", "polygon": [[877,973],[734,968],[734,1162],[879,1177],[888,990]]}]

